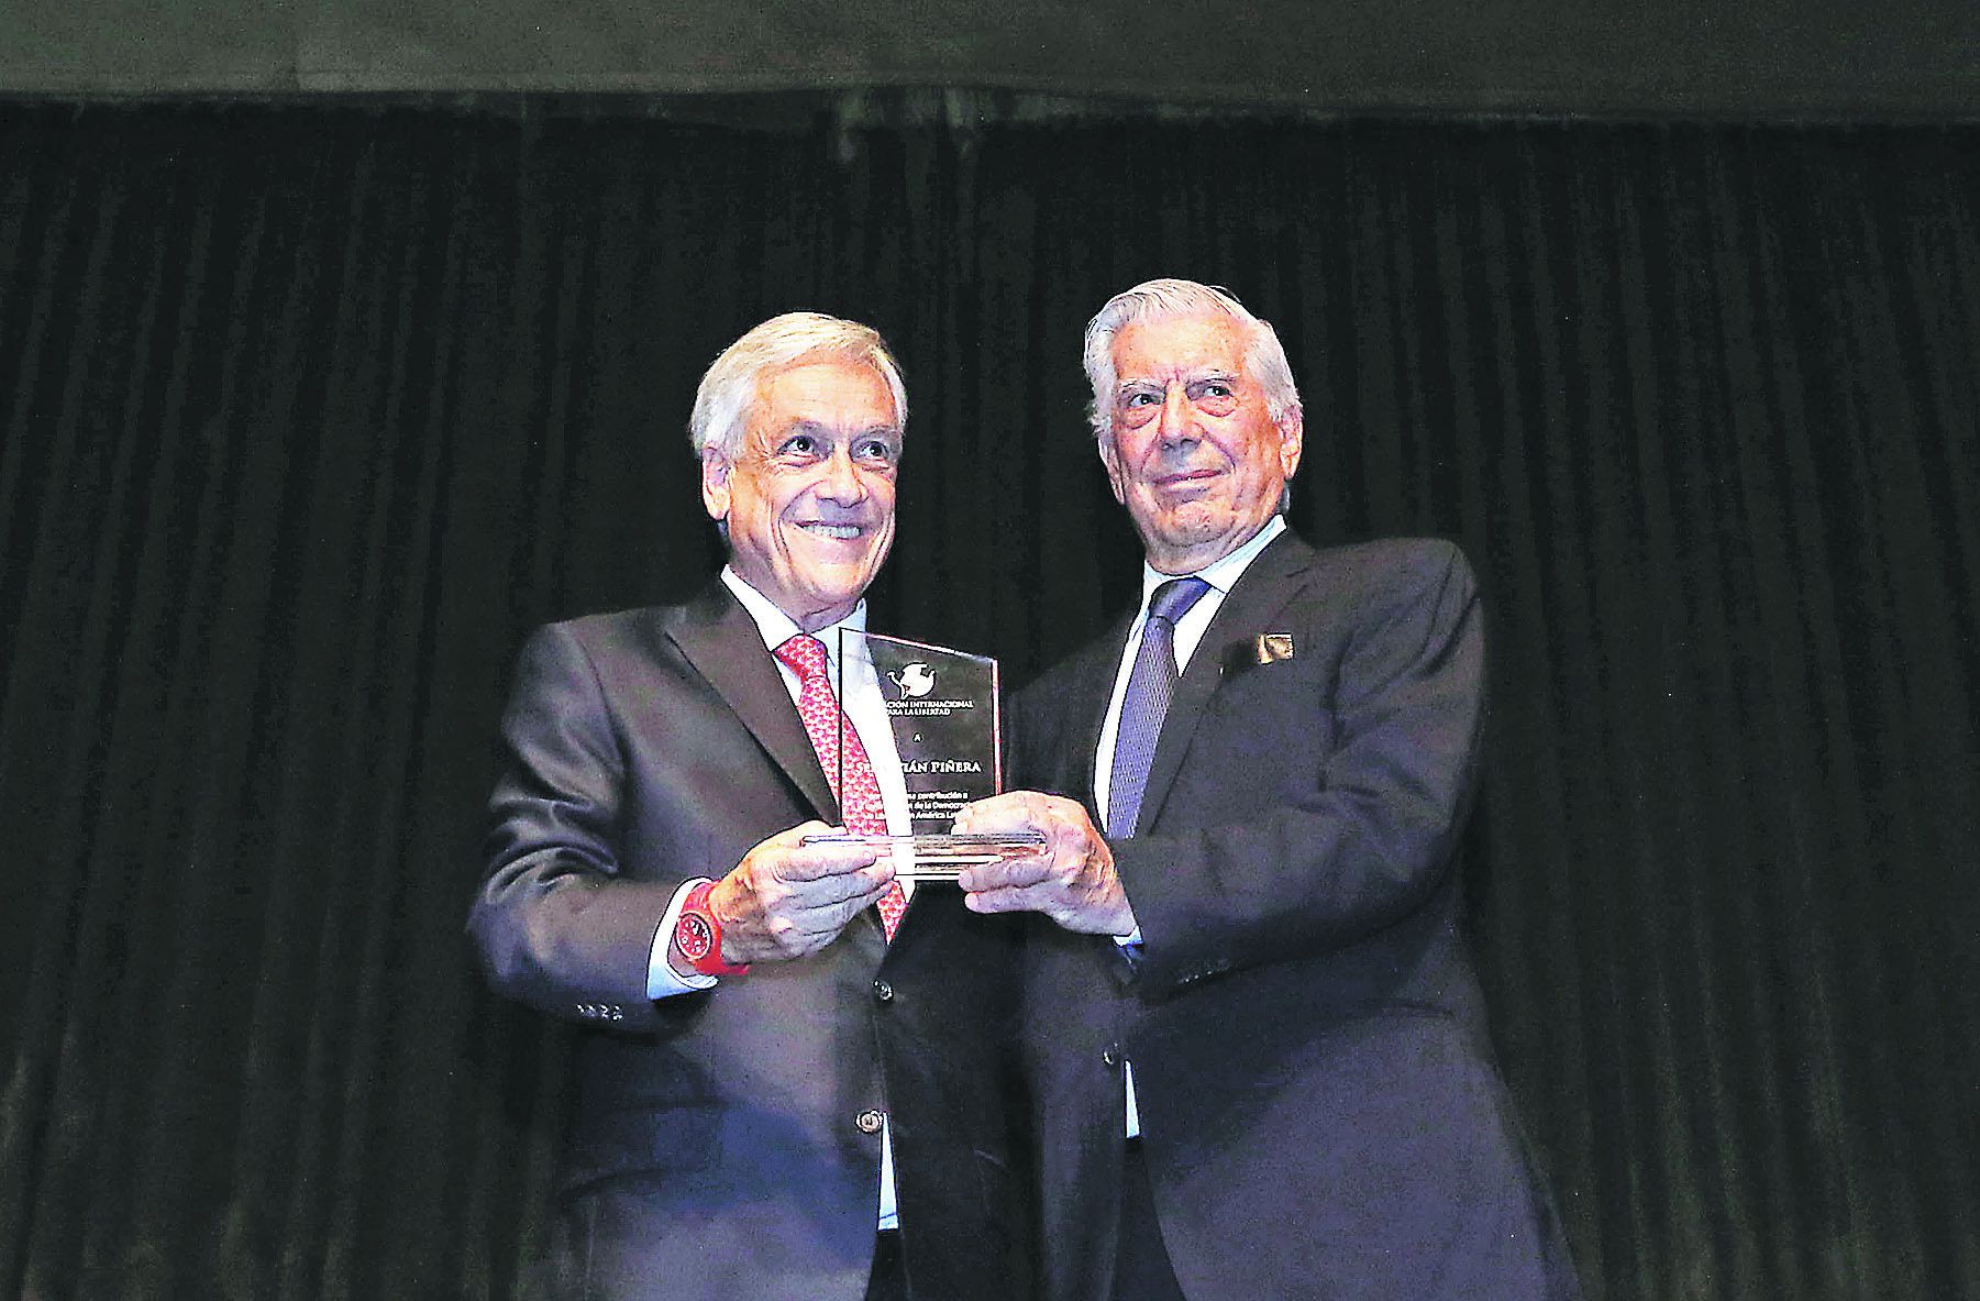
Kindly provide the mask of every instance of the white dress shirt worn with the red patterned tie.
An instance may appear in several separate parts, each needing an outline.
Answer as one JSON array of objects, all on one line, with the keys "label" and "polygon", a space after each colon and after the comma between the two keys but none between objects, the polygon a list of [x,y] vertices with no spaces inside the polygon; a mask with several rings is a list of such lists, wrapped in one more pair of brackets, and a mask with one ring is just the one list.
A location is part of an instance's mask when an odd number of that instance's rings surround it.
[{"label": "white dress shirt worn with the red patterned tie", "polygon": [[[723,584],[735,592],[735,598],[742,602],[742,608],[756,624],[764,651],[774,651],[802,632],[788,614],[776,608],[776,602],[742,582],[729,566],[723,566]],[[845,636],[842,638],[842,634]],[[843,693],[840,707],[845,711],[845,719],[853,725],[853,731],[859,733],[859,745],[865,747],[867,762],[873,764],[873,778],[879,782],[879,802],[887,810],[887,832],[907,836],[911,830],[907,818],[907,778],[901,776],[901,754],[893,749],[893,723],[887,719],[887,699],[879,691],[879,675],[873,671],[873,659],[865,648],[865,600],[853,606],[851,614],[820,628],[812,636],[826,646],[826,671],[832,675],[834,687]],[[798,691],[802,689],[798,671],[782,659],[776,661],[776,671],[784,677],[790,703],[796,705]],[[673,899],[659,919],[659,929],[653,933],[653,951],[645,968],[647,998],[671,998],[717,984],[715,976],[699,972],[681,976],[667,962],[667,945],[673,941],[673,927],[681,919],[681,905],[687,901],[687,893],[707,879],[693,877],[673,891]],[[901,889],[911,895],[915,883],[901,881]],[[899,1216],[893,1206],[891,1129],[883,1125],[879,1137],[879,1228],[887,1230],[899,1228]]]}]

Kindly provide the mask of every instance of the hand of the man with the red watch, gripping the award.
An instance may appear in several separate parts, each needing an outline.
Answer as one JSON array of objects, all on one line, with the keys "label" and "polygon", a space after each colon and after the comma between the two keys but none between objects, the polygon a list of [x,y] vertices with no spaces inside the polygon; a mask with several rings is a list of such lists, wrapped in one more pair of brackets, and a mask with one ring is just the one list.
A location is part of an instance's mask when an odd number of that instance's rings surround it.
[{"label": "hand of the man with the red watch, gripping the award", "polygon": [[836,828],[806,822],[742,855],[709,891],[725,962],[788,962],[840,937],[893,881],[893,861],[867,846],[802,846]]}]

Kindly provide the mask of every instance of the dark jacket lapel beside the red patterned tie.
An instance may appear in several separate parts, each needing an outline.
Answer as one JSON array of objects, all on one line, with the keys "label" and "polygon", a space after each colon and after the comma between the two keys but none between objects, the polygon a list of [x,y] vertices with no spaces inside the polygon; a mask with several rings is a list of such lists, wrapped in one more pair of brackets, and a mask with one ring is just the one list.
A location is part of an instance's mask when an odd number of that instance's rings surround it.
[{"label": "dark jacket lapel beside the red patterned tie", "polygon": [[840,802],[818,764],[804,719],[790,703],[790,691],[776,661],[762,646],[762,634],[748,610],[721,582],[715,582],[683,610],[667,636],[695,665],[715,693],[742,721],[742,727],[798,786],[826,822],[838,824]]}]

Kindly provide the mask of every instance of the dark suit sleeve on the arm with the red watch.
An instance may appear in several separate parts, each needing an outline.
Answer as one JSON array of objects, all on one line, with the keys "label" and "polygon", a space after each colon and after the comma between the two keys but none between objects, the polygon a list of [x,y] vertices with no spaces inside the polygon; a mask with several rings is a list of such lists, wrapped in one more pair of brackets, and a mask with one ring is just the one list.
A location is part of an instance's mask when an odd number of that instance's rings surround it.
[{"label": "dark suit sleeve on the arm with the red watch", "polygon": [[598,675],[568,628],[543,628],[525,644],[501,735],[489,875],[467,921],[489,982],[550,1016],[653,1030],[653,937],[679,881],[620,873],[612,836],[624,758]]}]

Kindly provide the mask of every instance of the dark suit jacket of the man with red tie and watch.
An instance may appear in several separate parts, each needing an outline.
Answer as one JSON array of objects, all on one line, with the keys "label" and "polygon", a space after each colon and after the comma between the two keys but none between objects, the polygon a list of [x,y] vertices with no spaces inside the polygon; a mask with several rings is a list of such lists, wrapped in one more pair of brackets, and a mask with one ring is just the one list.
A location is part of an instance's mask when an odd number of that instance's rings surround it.
[{"label": "dark suit jacket of the man with red tie and watch", "polygon": [[552,1232],[556,1297],[859,1301],[893,1129],[917,1297],[1006,1301],[1026,1269],[1006,1099],[1018,929],[925,887],[822,952],[645,996],[675,887],[838,820],[748,614],[554,624],[523,650],[469,919],[493,986],[590,1028]]}]

